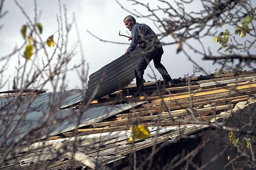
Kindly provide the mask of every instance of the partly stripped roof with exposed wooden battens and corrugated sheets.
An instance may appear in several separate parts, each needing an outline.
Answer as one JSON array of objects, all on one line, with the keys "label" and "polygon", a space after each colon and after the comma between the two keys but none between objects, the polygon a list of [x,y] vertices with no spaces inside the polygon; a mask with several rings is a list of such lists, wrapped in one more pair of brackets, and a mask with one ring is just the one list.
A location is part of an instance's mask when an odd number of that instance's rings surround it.
[{"label": "partly stripped roof with exposed wooden battens and corrugated sheets", "polygon": [[[179,142],[228,118],[236,104],[255,98],[255,80],[251,70],[174,79],[173,87],[147,82],[145,96],[137,98],[131,97],[135,84],[112,89],[111,80],[105,80],[100,87],[109,93],[100,91],[87,107],[84,94],[97,83],[87,90],[0,98],[0,168],[90,169],[74,155],[60,154],[55,147],[59,143],[108,166],[156,144]],[[131,143],[130,127],[137,124],[147,127],[150,136]]]}]

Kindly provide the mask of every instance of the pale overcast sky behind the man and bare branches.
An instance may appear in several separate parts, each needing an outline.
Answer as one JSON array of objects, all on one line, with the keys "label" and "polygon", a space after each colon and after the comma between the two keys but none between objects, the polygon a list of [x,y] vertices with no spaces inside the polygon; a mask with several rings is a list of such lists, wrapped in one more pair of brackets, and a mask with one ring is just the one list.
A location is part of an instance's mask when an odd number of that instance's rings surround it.
[{"label": "pale overcast sky behind the man and bare branches", "polygon": [[[138,7],[134,7],[131,2],[120,1],[128,9],[133,10]],[[23,0],[19,1],[29,16],[34,16],[34,1],[32,0]],[[155,1],[150,1],[154,5]],[[158,2],[159,3],[159,2]],[[89,64],[89,75],[93,72],[99,70],[104,65],[112,62],[118,57],[124,54],[125,48],[129,45],[120,45],[113,43],[101,42],[98,39],[91,36],[87,30],[95,34],[96,36],[110,41],[117,42],[127,42],[126,38],[120,37],[118,35],[119,30],[122,34],[129,35],[129,30],[127,30],[123,23],[123,18],[130,13],[121,9],[120,6],[114,0],[86,0],[86,1],[70,1],[62,0],[61,4],[65,4],[67,7],[67,16],[69,22],[75,14],[80,38],[82,40],[82,50],[86,62]],[[47,39],[49,35],[52,35],[57,30],[57,20],[56,15],[59,15],[59,6],[58,1],[53,0],[44,0],[37,1],[37,9],[41,11],[41,16],[39,22],[42,23],[43,33],[42,38]],[[0,25],[4,27],[0,30],[0,57],[8,55],[14,48],[15,45],[20,45],[24,41],[20,35],[20,27],[27,22],[26,17],[18,9],[15,3],[12,0],[5,1],[3,10],[8,10],[7,15],[0,20]],[[63,10],[63,9],[62,9]],[[142,9],[141,9],[142,10]],[[196,10],[194,7],[187,10]],[[161,18],[161,17],[160,17]],[[33,17],[31,17],[33,19]],[[152,22],[148,20],[137,18],[137,22],[146,23],[148,26],[152,27],[155,30],[155,26]],[[76,41],[75,28],[74,32],[71,33],[70,44]],[[155,32],[157,32],[155,30]],[[167,37],[165,41],[173,41],[172,37]],[[190,41],[191,42],[191,41]],[[193,41],[191,42],[193,43]],[[212,51],[219,48],[219,44],[212,42],[212,38],[206,40],[206,47],[210,47]],[[187,77],[193,73],[194,65],[191,63],[182,53],[176,54],[176,45],[166,45],[164,48],[164,55],[162,57],[162,63],[167,68],[170,76],[175,79],[179,77]],[[23,59],[23,58],[22,58]],[[33,56],[32,56],[33,59]],[[195,54],[193,59],[198,62],[209,74],[215,71],[215,68],[220,68],[220,65],[212,65],[211,61],[202,61],[202,56]],[[21,60],[25,62],[24,60]],[[70,65],[79,63],[80,53],[72,59]],[[37,62],[40,62],[38,60]],[[2,80],[6,80],[10,76],[10,82],[0,91],[10,90],[12,87],[12,79],[16,74],[14,69],[17,66],[18,61],[14,57],[11,58],[11,61],[8,63],[8,69],[5,72],[5,76],[2,77]],[[2,66],[3,63],[0,63]],[[153,62],[151,62],[153,66]],[[162,79],[160,74],[154,68],[157,78]],[[147,74],[153,75],[151,69],[148,67],[145,72],[145,80],[151,81],[150,77]],[[196,76],[199,76],[202,73],[197,73]],[[204,75],[204,74],[203,74]],[[81,88],[81,83],[76,76],[76,72],[73,71],[67,75],[68,84],[66,90],[72,88]],[[134,82],[133,82],[134,83]],[[46,86],[45,89],[51,91],[51,86]]]}]

